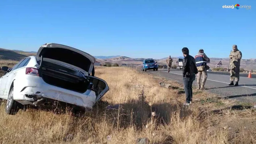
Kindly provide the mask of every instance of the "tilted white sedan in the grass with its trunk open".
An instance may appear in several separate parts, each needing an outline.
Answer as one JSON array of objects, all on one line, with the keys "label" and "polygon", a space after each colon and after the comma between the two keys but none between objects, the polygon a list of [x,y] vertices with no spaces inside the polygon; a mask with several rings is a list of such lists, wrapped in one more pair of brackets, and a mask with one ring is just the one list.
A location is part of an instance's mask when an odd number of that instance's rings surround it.
[{"label": "tilted white sedan in the grass with its trunk open", "polygon": [[91,110],[109,90],[107,83],[90,76],[95,58],[66,45],[46,43],[36,56],[24,58],[12,68],[2,66],[0,98],[6,113],[19,105],[51,106],[59,103]]}]

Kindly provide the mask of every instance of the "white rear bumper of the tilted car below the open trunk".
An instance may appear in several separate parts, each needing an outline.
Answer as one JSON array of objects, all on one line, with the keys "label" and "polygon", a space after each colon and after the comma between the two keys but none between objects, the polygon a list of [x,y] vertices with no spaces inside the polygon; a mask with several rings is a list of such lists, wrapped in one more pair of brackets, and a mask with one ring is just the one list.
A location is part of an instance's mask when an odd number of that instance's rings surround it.
[{"label": "white rear bumper of the tilted car below the open trunk", "polygon": [[13,99],[24,105],[37,105],[38,100],[46,98],[92,109],[96,99],[94,91],[87,90],[85,93],[78,93],[66,90],[47,84],[40,77],[36,81],[23,81],[22,86],[17,86],[17,84],[18,81],[14,82]]}]

